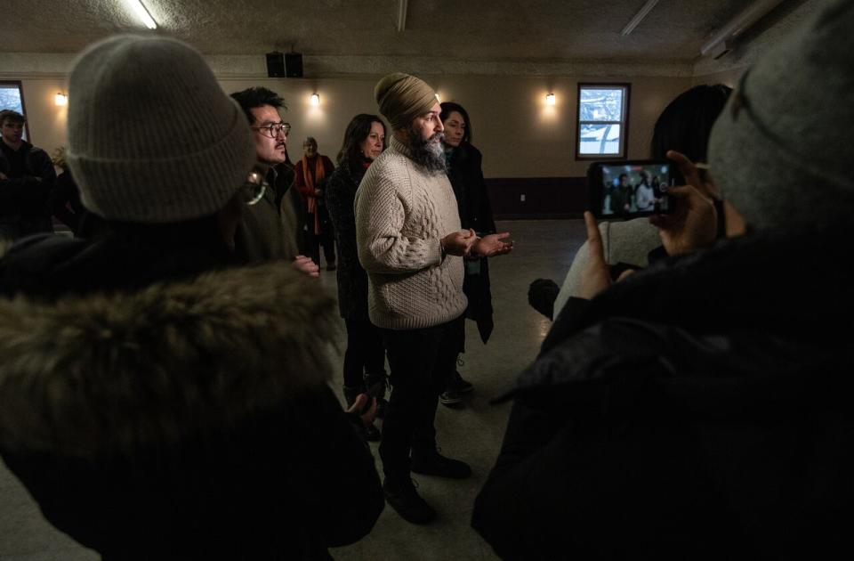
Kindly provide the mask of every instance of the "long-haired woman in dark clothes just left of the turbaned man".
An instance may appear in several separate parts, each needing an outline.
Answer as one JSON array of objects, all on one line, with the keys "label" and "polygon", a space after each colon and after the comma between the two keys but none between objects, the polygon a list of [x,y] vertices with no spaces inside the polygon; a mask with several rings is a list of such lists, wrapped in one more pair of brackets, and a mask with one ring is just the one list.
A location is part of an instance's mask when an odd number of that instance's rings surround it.
[{"label": "long-haired woman in dark clothes just left of the turbaned man", "polygon": [[[338,308],[347,326],[344,352],[344,399],[348,406],[367,388],[382,385],[377,402],[385,397],[385,348],[380,331],[367,317],[367,273],[359,264],[356,247],[356,215],[353,200],[362,176],[385,150],[385,125],[376,115],[361,113],[344,132],[338,167],[326,182],[326,207],[338,247]],[[379,408],[384,411],[384,407]],[[379,440],[380,432],[367,427],[369,440]]]}]

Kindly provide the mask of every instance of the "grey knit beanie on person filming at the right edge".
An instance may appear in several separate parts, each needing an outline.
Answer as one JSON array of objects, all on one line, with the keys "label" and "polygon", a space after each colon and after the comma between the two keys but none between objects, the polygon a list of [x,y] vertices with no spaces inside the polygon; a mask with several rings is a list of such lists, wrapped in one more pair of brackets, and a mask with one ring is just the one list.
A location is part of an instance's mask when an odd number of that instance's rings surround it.
[{"label": "grey knit beanie on person filming at the right edge", "polygon": [[755,230],[854,215],[854,2],[829,2],[748,69],[715,122],[709,164]]}]

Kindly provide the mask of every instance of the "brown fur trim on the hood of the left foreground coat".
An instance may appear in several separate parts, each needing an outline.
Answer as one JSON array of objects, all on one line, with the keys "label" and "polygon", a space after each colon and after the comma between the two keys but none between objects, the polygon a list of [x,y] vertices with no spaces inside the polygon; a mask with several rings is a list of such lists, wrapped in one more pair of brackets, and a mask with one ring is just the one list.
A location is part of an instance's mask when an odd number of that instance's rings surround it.
[{"label": "brown fur trim on the hood of the left foreground coat", "polygon": [[228,430],[326,385],[335,320],[283,263],[0,299],[0,448],[97,458]]}]

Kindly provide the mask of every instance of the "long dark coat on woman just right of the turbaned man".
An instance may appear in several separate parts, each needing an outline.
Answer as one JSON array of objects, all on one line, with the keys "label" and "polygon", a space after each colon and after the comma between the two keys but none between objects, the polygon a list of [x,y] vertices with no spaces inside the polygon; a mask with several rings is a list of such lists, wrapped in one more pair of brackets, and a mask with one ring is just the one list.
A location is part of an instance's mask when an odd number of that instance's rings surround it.
[{"label": "long dark coat on woman just right of the turbaned man", "polygon": [[[483,181],[482,163],[480,151],[470,143],[462,142],[451,152],[447,173],[460,211],[460,223],[463,228],[471,228],[479,235],[496,232],[489,192]],[[480,259],[478,273],[472,274],[470,270],[471,264],[466,267],[463,280],[463,292],[469,299],[465,315],[477,322],[480,338],[486,343],[494,327],[487,258]]]}]

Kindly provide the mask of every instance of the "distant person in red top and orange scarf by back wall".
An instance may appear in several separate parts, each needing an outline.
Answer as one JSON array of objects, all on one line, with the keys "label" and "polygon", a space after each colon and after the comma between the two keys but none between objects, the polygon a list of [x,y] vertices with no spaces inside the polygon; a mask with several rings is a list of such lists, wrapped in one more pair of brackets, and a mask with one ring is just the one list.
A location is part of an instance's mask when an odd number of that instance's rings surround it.
[{"label": "distant person in red top and orange scarf by back wall", "polygon": [[320,246],[326,257],[326,271],[335,270],[335,242],[333,226],[326,211],[324,189],[326,178],[335,167],[331,159],[318,153],[318,141],[309,136],[302,142],[305,155],[296,162],[296,188],[305,199],[305,250],[310,258],[320,264]]}]

